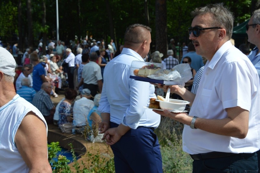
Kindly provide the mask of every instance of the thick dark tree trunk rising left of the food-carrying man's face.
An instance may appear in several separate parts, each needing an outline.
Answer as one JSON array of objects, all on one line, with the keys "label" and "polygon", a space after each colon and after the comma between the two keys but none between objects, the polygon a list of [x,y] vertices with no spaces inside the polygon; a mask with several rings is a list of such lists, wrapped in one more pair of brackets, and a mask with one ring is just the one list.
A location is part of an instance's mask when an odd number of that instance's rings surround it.
[{"label": "thick dark tree trunk rising left of the food-carrying man's face", "polygon": [[166,0],[156,0],[155,2],[155,30],[156,30],[156,45],[155,49],[164,54],[164,59],[167,55],[167,10]]}]

